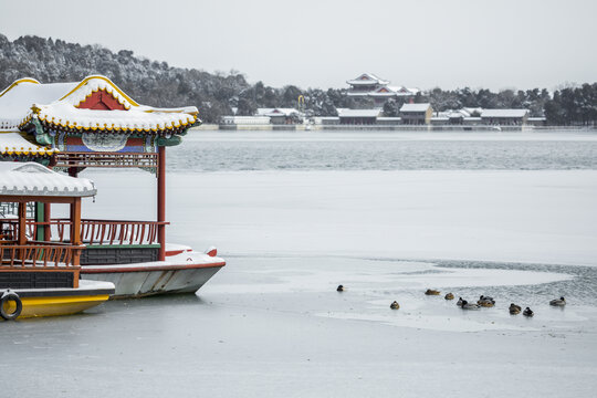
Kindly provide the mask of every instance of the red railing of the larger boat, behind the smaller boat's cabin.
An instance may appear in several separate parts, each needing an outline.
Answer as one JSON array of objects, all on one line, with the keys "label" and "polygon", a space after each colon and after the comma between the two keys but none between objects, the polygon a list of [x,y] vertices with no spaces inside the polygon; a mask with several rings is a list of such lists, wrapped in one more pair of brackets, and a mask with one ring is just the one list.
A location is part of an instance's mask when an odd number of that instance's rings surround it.
[{"label": "red railing of the larger boat, behind the smaller boat's cabin", "polygon": [[[52,219],[48,223],[28,220],[27,232],[31,239],[38,240],[38,227],[49,226],[50,237],[44,237],[45,241],[69,242],[71,224],[67,219]],[[153,244],[158,243],[159,226],[167,224],[169,222],[81,220],[81,241],[85,244]],[[9,239],[14,239],[18,235],[18,221],[2,219],[0,229]]]}]

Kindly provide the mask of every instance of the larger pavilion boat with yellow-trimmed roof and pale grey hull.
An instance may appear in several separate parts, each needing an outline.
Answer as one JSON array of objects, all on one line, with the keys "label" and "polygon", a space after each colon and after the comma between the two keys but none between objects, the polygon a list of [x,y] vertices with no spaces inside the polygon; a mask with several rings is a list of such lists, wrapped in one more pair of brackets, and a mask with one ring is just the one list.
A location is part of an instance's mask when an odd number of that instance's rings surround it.
[{"label": "larger pavilion boat with yellow-trimmed roof and pale grey hull", "polygon": [[[112,281],[118,297],[195,293],[226,265],[213,250],[202,253],[166,243],[166,148],[179,145],[187,130],[200,124],[197,115],[195,106],[140,105],[105,76],[53,84],[21,78],[0,92],[0,130],[10,132],[0,132],[0,157],[44,163],[72,177],[90,167],[154,172],[155,221],[80,221],[77,237],[85,245],[81,277]],[[2,139],[11,134],[11,144],[2,150]],[[23,140],[29,150],[14,145]],[[70,243],[72,221],[52,218],[51,212],[49,203],[35,207],[27,222],[29,235]]]}]

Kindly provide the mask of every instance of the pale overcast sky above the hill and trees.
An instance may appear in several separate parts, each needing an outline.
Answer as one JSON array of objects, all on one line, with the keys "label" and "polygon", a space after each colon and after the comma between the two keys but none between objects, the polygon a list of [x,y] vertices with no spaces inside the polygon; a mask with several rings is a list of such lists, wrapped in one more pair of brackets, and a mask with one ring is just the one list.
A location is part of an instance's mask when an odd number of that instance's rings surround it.
[{"label": "pale overcast sky above the hill and trees", "polygon": [[0,33],[35,34],[273,86],[554,88],[597,81],[596,0],[0,0]]}]

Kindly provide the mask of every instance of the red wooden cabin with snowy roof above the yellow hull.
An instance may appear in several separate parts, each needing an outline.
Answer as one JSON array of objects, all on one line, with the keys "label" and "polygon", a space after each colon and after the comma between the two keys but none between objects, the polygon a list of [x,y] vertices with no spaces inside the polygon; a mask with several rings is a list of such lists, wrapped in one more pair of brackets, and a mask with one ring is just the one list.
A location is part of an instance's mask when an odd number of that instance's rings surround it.
[{"label": "red wooden cabin with snowy roof above the yellow hull", "polygon": [[[96,193],[93,182],[54,172],[36,163],[0,166],[0,201],[17,203],[15,218],[0,219],[0,289],[78,287],[81,199]],[[31,233],[27,203],[67,203],[69,237],[62,241]]]}]

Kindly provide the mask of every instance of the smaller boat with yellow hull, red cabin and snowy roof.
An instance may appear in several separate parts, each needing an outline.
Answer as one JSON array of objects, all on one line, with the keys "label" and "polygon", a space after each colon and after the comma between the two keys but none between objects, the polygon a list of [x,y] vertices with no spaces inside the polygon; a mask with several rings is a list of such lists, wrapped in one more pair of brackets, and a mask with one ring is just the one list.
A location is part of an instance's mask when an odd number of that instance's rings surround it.
[{"label": "smaller boat with yellow hull, red cabin and snowy roof", "polygon": [[[18,218],[1,223],[0,315],[4,320],[67,315],[96,306],[114,293],[114,284],[80,281],[81,199],[96,190],[87,179],[61,176],[35,163],[3,164],[0,202],[17,203]],[[67,203],[69,243],[32,240],[27,234],[27,203]]]}]

